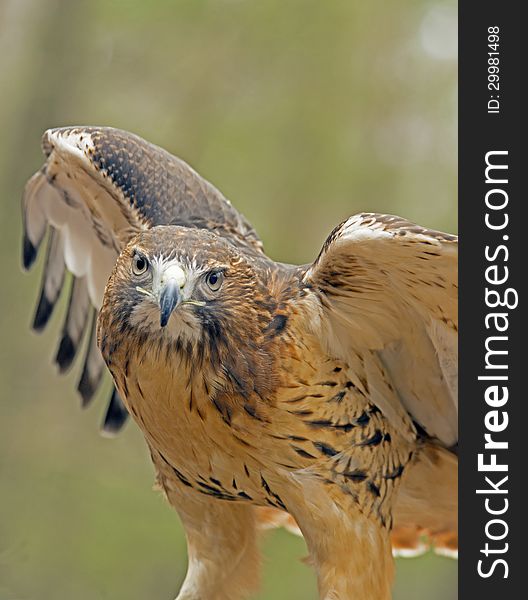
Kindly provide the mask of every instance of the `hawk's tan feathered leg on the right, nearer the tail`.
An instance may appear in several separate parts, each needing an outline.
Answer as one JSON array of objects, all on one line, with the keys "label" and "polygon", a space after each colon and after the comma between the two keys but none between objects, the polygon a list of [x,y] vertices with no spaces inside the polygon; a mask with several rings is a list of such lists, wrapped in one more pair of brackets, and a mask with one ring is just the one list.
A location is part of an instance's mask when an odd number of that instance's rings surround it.
[{"label": "hawk's tan feathered leg on the right, nearer the tail", "polygon": [[330,497],[327,490],[316,489],[319,485],[305,488],[308,494],[298,498],[292,516],[308,545],[321,600],[390,600],[389,531],[340,490],[332,490]]}]

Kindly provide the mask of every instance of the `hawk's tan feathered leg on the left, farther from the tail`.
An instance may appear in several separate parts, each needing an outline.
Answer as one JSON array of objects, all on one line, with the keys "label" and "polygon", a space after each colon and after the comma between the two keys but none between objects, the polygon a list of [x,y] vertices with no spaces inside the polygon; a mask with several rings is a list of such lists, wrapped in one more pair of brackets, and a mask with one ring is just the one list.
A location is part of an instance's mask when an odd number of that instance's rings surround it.
[{"label": "hawk's tan feathered leg on the left, farther from the tail", "polygon": [[176,600],[247,598],[259,580],[254,508],[209,497],[174,479],[159,476],[187,537],[187,575]]}]

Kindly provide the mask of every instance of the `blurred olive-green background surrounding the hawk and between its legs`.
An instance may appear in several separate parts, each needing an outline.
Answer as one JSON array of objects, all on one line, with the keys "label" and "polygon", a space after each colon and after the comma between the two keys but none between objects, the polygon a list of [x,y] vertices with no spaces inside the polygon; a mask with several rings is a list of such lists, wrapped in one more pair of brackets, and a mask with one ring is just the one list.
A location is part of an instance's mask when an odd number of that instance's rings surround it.
[{"label": "blurred olive-green background surrounding the hawk and between its legs", "polygon": [[[451,0],[0,0],[0,600],[170,600],[185,572],[138,430],[103,439],[103,398],[81,412],[77,370],[56,377],[57,315],[29,331],[19,202],[42,132],[165,146],[283,261],[361,210],[455,231],[456,36]],[[263,551],[260,600],[316,598],[302,540],[270,532]],[[399,559],[395,598],[454,599],[456,574]]]}]

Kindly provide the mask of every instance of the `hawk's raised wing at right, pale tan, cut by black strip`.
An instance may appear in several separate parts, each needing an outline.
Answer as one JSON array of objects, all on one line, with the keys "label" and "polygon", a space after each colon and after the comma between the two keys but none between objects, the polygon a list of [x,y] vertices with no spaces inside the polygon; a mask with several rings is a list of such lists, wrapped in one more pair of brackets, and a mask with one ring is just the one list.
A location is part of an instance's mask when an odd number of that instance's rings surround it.
[{"label": "hawk's raised wing at right, pale tan, cut by black strip", "polygon": [[328,351],[363,365],[389,418],[457,443],[458,243],[391,215],[359,214],[328,237],[304,282],[318,290]]}]

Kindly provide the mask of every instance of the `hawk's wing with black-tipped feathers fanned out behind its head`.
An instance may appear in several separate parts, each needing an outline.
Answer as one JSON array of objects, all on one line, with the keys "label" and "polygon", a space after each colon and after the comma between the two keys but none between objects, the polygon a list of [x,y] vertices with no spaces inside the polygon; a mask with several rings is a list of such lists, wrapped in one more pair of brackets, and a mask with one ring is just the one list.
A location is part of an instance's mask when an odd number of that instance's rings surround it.
[{"label": "hawk's wing with black-tipped feathers fanned out behind its head", "polygon": [[[181,225],[214,230],[248,252],[262,252],[249,223],[185,162],[141,138],[112,128],[68,127],[44,134],[46,162],[23,197],[23,263],[28,269],[47,236],[47,254],[33,328],[42,330],[72,273],[56,354],[60,372],[89,339],[78,384],[83,405],[105,370],[95,340],[96,313],[117,256],[142,229]],[[114,389],[103,429],[121,428],[127,413]]]}]

